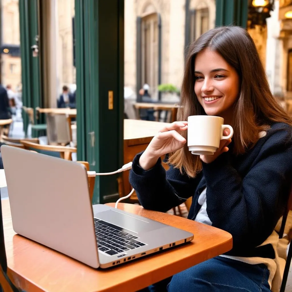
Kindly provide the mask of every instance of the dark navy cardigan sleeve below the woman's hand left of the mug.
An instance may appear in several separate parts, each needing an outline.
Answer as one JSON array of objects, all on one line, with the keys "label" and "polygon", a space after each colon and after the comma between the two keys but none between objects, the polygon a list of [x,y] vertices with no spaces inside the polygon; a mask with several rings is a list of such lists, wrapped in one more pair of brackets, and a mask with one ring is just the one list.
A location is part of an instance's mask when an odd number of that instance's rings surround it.
[{"label": "dark navy cardigan sleeve below the woman's hand left of the mug", "polygon": [[160,158],[153,168],[145,171],[139,165],[141,154],[133,159],[129,181],[145,209],[165,212],[194,195],[199,176],[189,178],[172,165],[165,171]]}]

